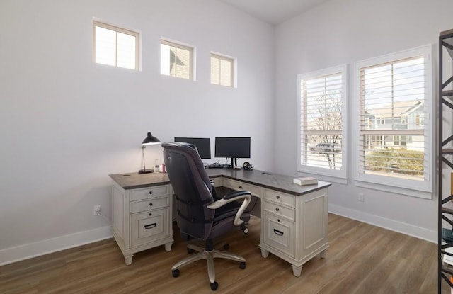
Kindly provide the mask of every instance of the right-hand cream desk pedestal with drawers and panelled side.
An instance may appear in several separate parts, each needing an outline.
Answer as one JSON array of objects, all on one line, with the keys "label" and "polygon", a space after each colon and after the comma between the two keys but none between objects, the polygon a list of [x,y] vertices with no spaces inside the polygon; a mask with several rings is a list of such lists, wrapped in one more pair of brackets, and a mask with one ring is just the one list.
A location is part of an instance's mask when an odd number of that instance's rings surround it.
[{"label": "right-hand cream desk pedestal with drawers and panelled side", "polygon": [[265,198],[261,218],[261,255],[270,252],[288,261],[294,276],[300,276],[306,261],[317,254],[326,257],[327,189],[295,197],[294,208],[270,199]]}]

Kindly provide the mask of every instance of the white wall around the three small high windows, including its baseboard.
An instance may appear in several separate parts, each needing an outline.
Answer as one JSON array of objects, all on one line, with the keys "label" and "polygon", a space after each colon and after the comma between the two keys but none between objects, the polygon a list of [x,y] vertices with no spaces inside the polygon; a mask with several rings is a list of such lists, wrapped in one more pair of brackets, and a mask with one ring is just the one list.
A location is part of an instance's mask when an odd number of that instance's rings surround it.
[{"label": "white wall around the three small high windows, including its baseboard", "polygon": [[[93,63],[93,17],[140,30],[141,72]],[[197,81],[159,74],[161,37],[196,46]],[[210,84],[211,50],[237,58],[237,89]],[[140,168],[149,131],[251,136],[273,169],[274,57],[273,26],[219,1],[2,0],[0,264],[110,236],[93,205],[110,215],[108,174]]]}]

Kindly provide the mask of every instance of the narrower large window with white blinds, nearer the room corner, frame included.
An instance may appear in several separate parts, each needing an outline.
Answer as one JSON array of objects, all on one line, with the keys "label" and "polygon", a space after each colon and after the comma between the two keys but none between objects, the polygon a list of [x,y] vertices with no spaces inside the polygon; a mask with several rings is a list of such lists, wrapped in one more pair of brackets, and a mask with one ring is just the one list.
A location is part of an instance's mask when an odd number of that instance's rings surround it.
[{"label": "narrower large window with white blinds, nearer the room corner, frame included", "polygon": [[299,74],[298,171],[346,177],[346,66]]}]

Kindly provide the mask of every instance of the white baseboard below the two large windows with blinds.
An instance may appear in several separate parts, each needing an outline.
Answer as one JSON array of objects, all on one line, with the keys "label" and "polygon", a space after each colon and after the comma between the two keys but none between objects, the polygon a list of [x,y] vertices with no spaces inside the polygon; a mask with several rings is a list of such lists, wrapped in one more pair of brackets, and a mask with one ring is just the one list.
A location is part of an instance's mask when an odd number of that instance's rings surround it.
[{"label": "white baseboard below the two large windows with blinds", "polygon": [[437,231],[410,225],[406,222],[398,222],[389,218],[362,213],[361,211],[344,208],[343,206],[335,204],[328,204],[328,212],[352,218],[353,220],[359,220],[360,222],[366,222],[369,225],[375,225],[377,227],[383,227],[384,229],[407,234],[428,242],[437,243]]}]

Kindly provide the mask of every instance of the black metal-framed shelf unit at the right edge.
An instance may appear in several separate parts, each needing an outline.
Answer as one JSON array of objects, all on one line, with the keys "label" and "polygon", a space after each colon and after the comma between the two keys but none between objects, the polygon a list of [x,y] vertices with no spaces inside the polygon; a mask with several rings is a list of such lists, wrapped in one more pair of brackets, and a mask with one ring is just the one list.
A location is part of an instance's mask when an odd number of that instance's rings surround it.
[{"label": "black metal-framed shelf unit at the right edge", "polygon": [[[449,77],[444,81],[445,72],[449,70]],[[445,238],[442,238],[442,232],[448,232],[446,230],[452,230],[453,227],[453,209],[446,208],[445,204],[453,200],[453,195],[444,196],[446,191],[443,190],[443,177],[442,167],[444,164],[449,166],[453,171],[453,135],[449,135],[444,139],[444,123],[445,118],[449,122],[453,120],[453,30],[446,30],[439,34],[439,176],[438,176],[438,225],[437,225],[437,278],[438,285],[437,290],[439,294],[442,294],[442,288],[453,288],[453,284],[450,281],[450,278],[453,276],[453,266],[443,262],[443,256],[449,255],[453,256],[452,253],[447,252],[448,248],[453,248],[453,242],[445,241]],[[445,108],[445,109],[444,109]],[[449,113],[447,113],[448,110]],[[449,114],[449,117],[447,115]],[[451,131],[451,130],[450,130]],[[453,183],[450,183],[453,185]],[[448,193],[450,194],[450,192]],[[442,244],[443,243],[443,244]],[[452,251],[453,252],[453,251]],[[449,291],[450,292],[450,291]],[[448,292],[448,293],[449,293]],[[445,293],[445,292],[444,292]]]}]

